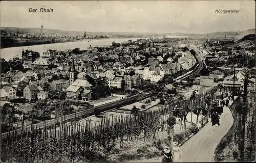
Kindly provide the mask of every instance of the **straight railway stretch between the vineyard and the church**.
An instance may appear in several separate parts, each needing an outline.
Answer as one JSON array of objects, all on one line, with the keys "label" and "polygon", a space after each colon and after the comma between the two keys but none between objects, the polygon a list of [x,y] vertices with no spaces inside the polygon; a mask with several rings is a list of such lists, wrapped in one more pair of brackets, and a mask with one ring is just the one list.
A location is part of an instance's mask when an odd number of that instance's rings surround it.
[{"label": "straight railway stretch between the vineyard and the church", "polygon": [[[121,99],[119,101],[114,101],[114,102],[110,102],[110,103],[96,106],[93,108],[89,108],[88,110],[83,110],[83,111],[80,111],[77,113],[72,113],[72,114],[66,115],[65,119],[71,120],[71,119],[74,119],[75,117],[81,117],[81,116],[87,116],[87,115],[90,116],[91,114],[93,114],[93,112],[96,108],[98,108],[100,111],[104,111],[104,110],[109,110],[110,108],[113,108],[115,106],[120,106],[120,105],[129,103],[129,102],[132,102],[132,101],[139,101],[139,100],[145,99],[147,97],[150,97],[152,92],[154,92],[154,90],[152,90],[150,92],[146,92],[146,93],[136,94],[136,95],[128,97],[126,99]],[[57,120],[57,122],[60,122],[61,118],[59,117],[56,120]],[[55,123],[55,119],[45,121],[46,127],[51,126],[54,123]],[[34,124],[34,128],[42,128],[42,127],[44,127],[44,122]],[[27,131],[30,131],[30,129],[31,129],[31,125],[24,127],[23,130],[24,130],[24,132],[27,133]],[[12,136],[13,132],[14,131],[10,131],[9,137]],[[21,128],[17,129],[17,134],[18,135],[22,134]],[[2,133],[2,139],[5,139],[5,138],[8,138],[8,132]]]}]

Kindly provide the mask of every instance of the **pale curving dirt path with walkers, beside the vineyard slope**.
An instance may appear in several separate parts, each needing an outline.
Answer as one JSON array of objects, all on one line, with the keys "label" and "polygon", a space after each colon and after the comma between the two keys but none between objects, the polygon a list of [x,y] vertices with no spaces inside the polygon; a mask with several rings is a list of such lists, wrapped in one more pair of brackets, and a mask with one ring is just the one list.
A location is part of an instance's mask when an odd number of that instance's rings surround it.
[{"label": "pale curving dirt path with walkers, beside the vineyard slope", "polygon": [[[232,113],[228,107],[224,107],[220,116],[220,126],[211,126],[209,121],[194,137],[180,147],[182,151],[182,162],[211,162],[215,149],[221,139],[233,124]],[[131,162],[161,162],[159,159],[141,159]]]}]

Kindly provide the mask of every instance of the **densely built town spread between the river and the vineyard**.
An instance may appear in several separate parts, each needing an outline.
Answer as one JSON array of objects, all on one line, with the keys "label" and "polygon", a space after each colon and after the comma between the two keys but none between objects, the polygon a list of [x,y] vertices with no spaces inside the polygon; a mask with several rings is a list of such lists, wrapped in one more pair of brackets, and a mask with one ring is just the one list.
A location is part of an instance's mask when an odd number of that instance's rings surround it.
[{"label": "densely built town spread between the river and the vineyard", "polygon": [[[226,36],[150,38],[87,50],[24,49],[22,58],[1,59],[1,107],[8,117],[2,138],[10,137],[11,121],[16,133],[24,134],[30,126],[50,127],[56,118],[73,125],[78,120],[80,126],[90,116],[97,126],[102,118],[161,112],[170,103],[186,107],[181,101],[212,91],[214,99],[224,99],[228,92],[233,99],[241,93],[246,76],[247,91],[254,93],[255,46],[250,37],[255,34],[236,42]],[[203,117],[203,110],[197,113],[195,107],[190,114],[191,122],[197,116],[197,126],[208,121],[207,111]],[[186,128],[186,123],[181,127]]]}]

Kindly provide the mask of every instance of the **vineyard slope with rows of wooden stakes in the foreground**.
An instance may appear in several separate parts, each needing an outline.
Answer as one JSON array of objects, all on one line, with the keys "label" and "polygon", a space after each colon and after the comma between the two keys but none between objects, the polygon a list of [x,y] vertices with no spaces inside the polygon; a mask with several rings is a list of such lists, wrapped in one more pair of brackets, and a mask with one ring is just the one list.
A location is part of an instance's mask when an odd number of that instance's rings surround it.
[{"label": "vineyard slope with rows of wooden stakes in the foreground", "polygon": [[[150,113],[102,118],[100,125],[94,126],[90,120],[78,123],[77,117],[68,126],[65,117],[61,116],[60,123],[55,121],[50,129],[34,128],[31,125],[31,130],[23,131],[21,136],[15,134],[16,132],[9,134],[8,139],[2,140],[2,161],[45,162],[56,155],[68,157],[71,162],[84,158],[103,159],[116,146],[121,148],[124,141],[155,140],[158,133],[163,131],[172,134],[173,138],[172,129],[176,123],[174,117],[184,120],[184,127],[181,125],[181,128],[186,130],[186,113],[196,111],[197,115],[202,114],[206,105],[209,108],[215,98],[215,91],[211,91],[189,99],[178,99]],[[209,109],[206,111],[209,113]],[[101,151],[103,156],[97,154],[97,151]]]}]

